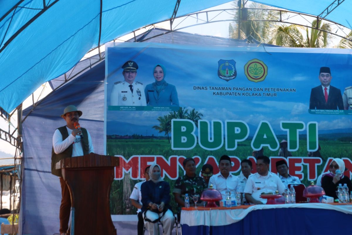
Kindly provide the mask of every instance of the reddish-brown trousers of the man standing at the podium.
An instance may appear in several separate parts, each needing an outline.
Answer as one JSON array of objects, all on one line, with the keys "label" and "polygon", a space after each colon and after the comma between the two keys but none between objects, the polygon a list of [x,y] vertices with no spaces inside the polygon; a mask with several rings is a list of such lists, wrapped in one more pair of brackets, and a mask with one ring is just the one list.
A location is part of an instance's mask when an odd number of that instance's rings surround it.
[{"label": "reddish-brown trousers of the man standing at the podium", "polygon": [[60,205],[60,233],[66,233],[68,230],[68,223],[70,220],[70,211],[71,211],[71,197],[70,191],[65,180],[60,177],[61,185],[61,205]]}]

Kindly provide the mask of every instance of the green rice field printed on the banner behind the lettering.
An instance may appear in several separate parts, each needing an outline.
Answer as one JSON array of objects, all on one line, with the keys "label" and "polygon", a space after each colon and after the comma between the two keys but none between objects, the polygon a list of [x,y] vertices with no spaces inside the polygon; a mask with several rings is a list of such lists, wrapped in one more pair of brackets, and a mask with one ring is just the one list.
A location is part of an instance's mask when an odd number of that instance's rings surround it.
[{"label": "green rice field printed on the banner behind the lettering", "polygon": [[[282,138],[278,140],[281,141]],[[323,159],[323,163],[318,166],[318,175],[321,173],[322,168],[325,166],[326,159],[328,157],[348,157],[351,158],[351,147],[350,142],[342,142],[338,140],[324,140],[319,141],[321,146],[320,154]],[[202,149],[199,144],[191,150],[171,150],[171,144],[168,140],[107,140],[107,155],[122,155],[125,159],[129,159],[132,155],[162,155],[165,159],[168,159],[171,155],[193,157],[200,156],[202,159],[201,164],[197,167],[197,174],[199,174],[201,167],[207,158],[207,156],[214,156],[217,160],[222,155],[237,156],[239,159],[246,159],[252,155],[251,140],[240,142],[236,150],[227,151],[225,147],[221,147],[218,150],[209,151]],[[268,147],[264,147],[264,155],[266,156],[277,156],[277,151],[270,151]],[[307,156],[307,141],[301,140],[299,142],[299,149],[291,152],[293,156],[303,157]],[[255,166],[254,166],[255,167]],[[179,168],[179,175],[182,175],[183,171]],[[235,175],[238,175],[237,172]],[[303,166],[304,180],[303,184],[308,185],[307,180],[307,166]],[[115,180],[111,188],[111,214],[136,214],[136,208],[130,203],[130,194],[132,192],[134,184],[138,183],[138,180],[131,180],[129,175],[125,174],[125,179]],[[171,192],[174,187],[174,180],[164,179],[170,184]],[[176,204],[174,196],[171,193],[171,206],[175,210]],[[176,211],[176,210],[175,210]]]}]

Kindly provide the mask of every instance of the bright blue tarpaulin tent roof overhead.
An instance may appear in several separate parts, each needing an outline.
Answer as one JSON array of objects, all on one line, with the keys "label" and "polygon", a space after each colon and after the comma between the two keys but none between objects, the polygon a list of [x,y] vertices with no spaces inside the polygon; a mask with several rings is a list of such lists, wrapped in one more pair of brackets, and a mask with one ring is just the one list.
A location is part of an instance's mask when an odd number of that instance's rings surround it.
[{"label": "bright blue tarpaulin tent roof overhead", "polygon": [[[83,55],[126,33],[228,0],[0,1],[0,107],[10,113]],[[256,1],[351,26],[350,0]]]}]

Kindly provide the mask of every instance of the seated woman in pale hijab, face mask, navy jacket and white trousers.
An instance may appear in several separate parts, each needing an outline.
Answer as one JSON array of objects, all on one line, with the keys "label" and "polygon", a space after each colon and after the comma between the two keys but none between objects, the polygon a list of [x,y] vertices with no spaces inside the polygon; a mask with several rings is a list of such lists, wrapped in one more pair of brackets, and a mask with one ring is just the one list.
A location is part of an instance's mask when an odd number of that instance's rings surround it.
[{"label": "seated woman in pale hijab, face mask, navy jacket and white trousers", "polygon": [[142,213],[149,234],[158,234],[158,221],[163,224],[163,235],[170,235],[175,217],[170,210],[170,185],[161,178],[161,169],[157,164],[149,168],[150,179],[141,186]]}]

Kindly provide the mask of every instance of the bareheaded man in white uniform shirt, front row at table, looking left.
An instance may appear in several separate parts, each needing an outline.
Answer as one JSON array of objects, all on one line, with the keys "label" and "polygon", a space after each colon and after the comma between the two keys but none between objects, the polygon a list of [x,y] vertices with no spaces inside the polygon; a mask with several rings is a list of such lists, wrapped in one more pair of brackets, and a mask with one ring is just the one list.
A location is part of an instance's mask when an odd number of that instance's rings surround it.
[{"label": "bareheaded man in white uniform shirt, front row at table, looking left", "polygon": [[251,204],[265,204],[266,199],[260,198],[261,193],[282,194],[284,184],[276,174],[269,172],[270,159],[267,156],[259,156],[257,159],[257,173],[248,177],[244,193],[247,202]]}]

